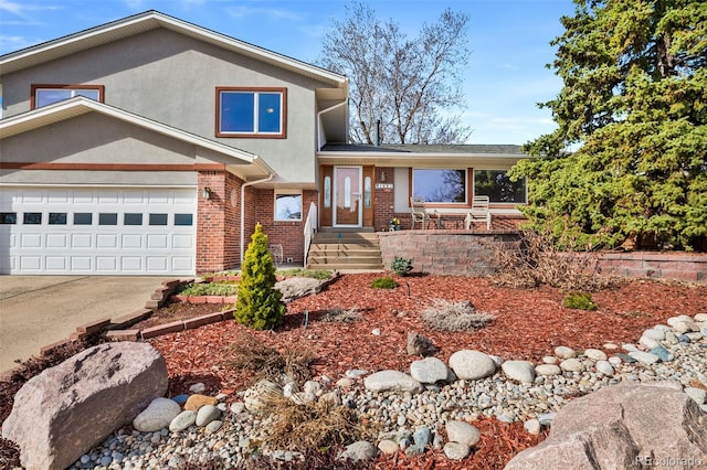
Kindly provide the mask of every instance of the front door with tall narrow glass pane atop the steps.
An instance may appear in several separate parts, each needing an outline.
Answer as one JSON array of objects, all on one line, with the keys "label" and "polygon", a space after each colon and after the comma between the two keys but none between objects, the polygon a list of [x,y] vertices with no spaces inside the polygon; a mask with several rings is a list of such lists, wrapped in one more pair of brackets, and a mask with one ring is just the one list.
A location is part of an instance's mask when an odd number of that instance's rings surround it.
[{"label": "front door with tall narrow glass pane atop the steps", "polygon": [[361,226],[361,167],[334,168],[334,226]]}]

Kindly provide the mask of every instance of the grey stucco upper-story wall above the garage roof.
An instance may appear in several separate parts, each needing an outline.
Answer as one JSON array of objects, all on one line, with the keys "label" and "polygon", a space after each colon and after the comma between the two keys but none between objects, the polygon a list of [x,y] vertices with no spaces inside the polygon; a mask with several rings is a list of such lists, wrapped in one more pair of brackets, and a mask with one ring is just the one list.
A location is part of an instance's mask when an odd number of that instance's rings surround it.
[{"label": "grey stucco upper-story wall above the garage roof", "polygon": [[[3,117],[30,109],[32,84],[104,85],[108,105],[255,153],[287,181],[315,182],[315,89],[325,85],[168,30],[9,74],[2,84]],[[217,86],[286,87],[287,138],[217,138]]]}]

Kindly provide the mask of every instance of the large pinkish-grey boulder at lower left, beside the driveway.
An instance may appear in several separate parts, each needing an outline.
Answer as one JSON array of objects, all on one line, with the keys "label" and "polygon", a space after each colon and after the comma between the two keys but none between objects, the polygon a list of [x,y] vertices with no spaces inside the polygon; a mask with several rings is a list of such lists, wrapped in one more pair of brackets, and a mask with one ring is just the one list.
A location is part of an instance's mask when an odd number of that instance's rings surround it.
[{"label": "large pinkish-grey boulder at lower left, beside the driveway", "polygon": [[2,437],[25,469],[64,469],[166,392],[167,365],[151,345],[99,344],[29,380]]}]

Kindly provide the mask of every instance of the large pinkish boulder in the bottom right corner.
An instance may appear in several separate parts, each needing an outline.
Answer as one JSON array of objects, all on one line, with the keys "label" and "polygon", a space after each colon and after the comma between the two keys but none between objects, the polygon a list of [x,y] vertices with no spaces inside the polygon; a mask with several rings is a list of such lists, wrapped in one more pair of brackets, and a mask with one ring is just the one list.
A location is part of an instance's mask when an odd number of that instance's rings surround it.
[{"label": "large pinkish boulder in the bottom right corner", "polygon": [[[506,470],[642,469],[707,462],[707,414],[671,382],[620,384],[570,402],[550,435]],[[694,463],[693,463],[694,466]],[[692,467],[688,463],[678,468]]]}]

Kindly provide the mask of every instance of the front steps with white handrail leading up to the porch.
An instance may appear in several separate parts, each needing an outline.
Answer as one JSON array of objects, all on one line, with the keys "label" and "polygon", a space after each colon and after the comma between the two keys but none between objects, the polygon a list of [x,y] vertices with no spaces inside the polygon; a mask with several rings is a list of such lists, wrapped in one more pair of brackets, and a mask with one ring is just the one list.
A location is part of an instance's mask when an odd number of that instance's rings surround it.
[{"label": "front steps with white handrail leading up to the porch", "polygon": [[318,232],[307,269],[382,269],[378,234],[373,232]]}]

